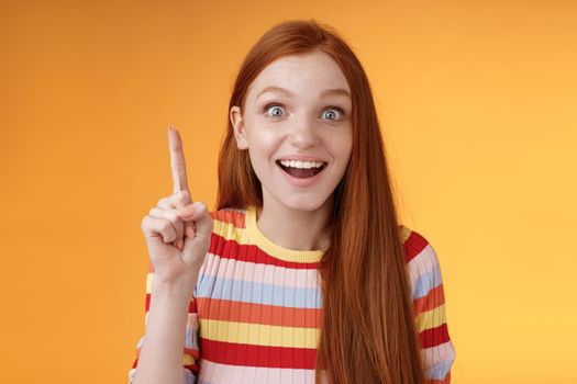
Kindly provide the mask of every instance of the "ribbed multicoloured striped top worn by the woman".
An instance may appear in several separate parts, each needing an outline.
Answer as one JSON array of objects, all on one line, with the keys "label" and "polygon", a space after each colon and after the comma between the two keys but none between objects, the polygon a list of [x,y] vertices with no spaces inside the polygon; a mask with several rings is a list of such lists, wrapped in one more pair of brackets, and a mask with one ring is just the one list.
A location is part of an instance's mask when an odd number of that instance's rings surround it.
[{"label": "ribbed multicoloured striped top worn by the woman", "polygon": [[[211,245],[190,298],[184,383],[314,384],[322,321],[322,250],[280,247],[256,226],[254,206],[211,212]],[[400,225],[429,384],[451,382],[441,270],[426,239]],[[146,279],[145,327],[154,268]],[[144,336],[129,372],[133,382]]]}]

